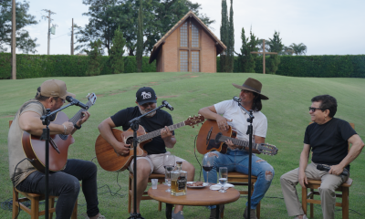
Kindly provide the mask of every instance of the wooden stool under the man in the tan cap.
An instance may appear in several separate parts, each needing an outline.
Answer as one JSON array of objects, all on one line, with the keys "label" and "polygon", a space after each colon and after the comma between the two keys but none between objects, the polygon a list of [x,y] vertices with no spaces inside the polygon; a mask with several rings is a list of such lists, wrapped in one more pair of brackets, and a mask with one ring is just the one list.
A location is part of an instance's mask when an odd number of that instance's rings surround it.
[{"label": "wooden stool under the man in the tan cap", "polygon": [[[21,193],[25,198],[18,198],[19,193]],[[49,219],[52,219],[53,213],[56,212],[55,205],[55,198],[58,196],[49,196]],[[13,189],[13,218],[16,218],[16,215],[19,212],[19,205],[20,208],[25,211],[27,214],[30,215],[31,219],[37,219],[41,215],[45,215],[46,211],[39,211],[39,201],[45,200],[44,194],[39,193],[25,193],[17,190],[16,188]],[[19,201],[19,204],[18,204]],[[30,209],[26,207],[26,205],[23,204],[23,202],[30,201]],[[76,200],[74,211],[72,212],[71,219],[77,219],[78,218],[78,200]]]}]

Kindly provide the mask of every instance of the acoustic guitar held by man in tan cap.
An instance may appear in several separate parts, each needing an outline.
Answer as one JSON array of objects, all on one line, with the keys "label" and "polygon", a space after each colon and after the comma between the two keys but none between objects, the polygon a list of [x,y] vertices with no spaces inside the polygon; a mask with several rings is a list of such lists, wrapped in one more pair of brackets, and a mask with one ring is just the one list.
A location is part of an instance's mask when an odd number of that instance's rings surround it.
[{"label": "acoustic guitar held by man in tan cap", "polygon": [[[90,108],[95,104],[97,100],[97,96],[95,93],[91,93],[87,96],[89,99],[86,105]],[[75,114],[70,120],[68,120],[68,116],[59,111],[56,114],[55,120],[51,121],[53,124],[62,124],[65,121],[70,121],[73,124],[78,122],[82,117],[82,112],[86,111],[84,109],[78,110],[78,113]],[[64,134],[55,134],[50,135],[49,140],[49,172],[57,172],[63,170],[66,162],[68,162],[68,147],[70,144],[74,143],[75,140],[72,135],[64,135]],[[46,170],[46,141],[40,140],[40,136],[31,135],[28,132],[24,131],[22,136],[22,144],[23,150],[26,153],[26,157],[29,159],[33,159],[33,166],[39,172],[45,172]]]}]

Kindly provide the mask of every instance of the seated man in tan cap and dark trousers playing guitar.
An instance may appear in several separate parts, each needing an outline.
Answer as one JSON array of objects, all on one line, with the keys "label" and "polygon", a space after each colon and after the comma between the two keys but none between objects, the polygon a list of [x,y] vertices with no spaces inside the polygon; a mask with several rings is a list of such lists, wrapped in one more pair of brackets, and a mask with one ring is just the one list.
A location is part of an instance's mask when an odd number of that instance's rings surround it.
[{"label": "seated man in tan cap and dark trousers playing guitar", "polygon": [[[45,128],[40,117],[46,114],[46,109],[57,110],[65,103],[67,96],[75,98],[69,93],[62,80],[50,79],[42,83],[37,89],[35,99],[30,99],[16,112],[16,116],[8,134],[9,172],[16,189],[26,193],[45,193],[45,174],[38,172],[31,162],[26,160],[22,147],[24,131],[31,135],[40,136]],[[74,126],[72,122],[63,124],[49,124],[51,135],[73,134],[89,119],[89,112],[83,112],[83,117]],[[50,173],[48,179],[49,195],[58,196],[56,204],[56,218],[70,218],[74,205],[78,199],[79,181],[82,181],[82,191],[87,203],[87,218],[105,219],[99,214],[97,166],[93,162],[68,159],[64,169]]]}]

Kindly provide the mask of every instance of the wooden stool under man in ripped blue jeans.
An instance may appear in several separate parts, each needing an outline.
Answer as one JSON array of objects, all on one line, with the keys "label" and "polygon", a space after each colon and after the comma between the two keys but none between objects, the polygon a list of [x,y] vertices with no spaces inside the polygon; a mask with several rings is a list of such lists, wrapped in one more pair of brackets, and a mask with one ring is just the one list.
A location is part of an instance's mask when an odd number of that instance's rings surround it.
[{"label": "wooden stool under man in ripped blue jeans", "polygon": [[[251,176],[251,195],[254,193],[254,184],[257,181],[257,177]],[[248,175],[241,172],[228,172],[228,183],[234,185],[245,185],[248,186]],[[247,190],[238,191],[240,194],[248,194]],[[256,206],[256,217],[260,219],[260,206],[261,202]],[[224,211],[221,213],[221,218],[224,217]]]}]

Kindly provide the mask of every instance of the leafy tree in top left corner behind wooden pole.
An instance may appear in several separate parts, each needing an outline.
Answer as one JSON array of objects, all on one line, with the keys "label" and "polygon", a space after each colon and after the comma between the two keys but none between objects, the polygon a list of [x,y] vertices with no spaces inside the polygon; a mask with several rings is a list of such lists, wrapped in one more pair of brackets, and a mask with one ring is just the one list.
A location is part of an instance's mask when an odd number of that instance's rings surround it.
[{"label": "leafy tree in top left corner behind wooden pole", "polygon": [[[26,26],[36,25],[35,16],[27,14],[29,4],[16,3],[16,48],[24,53],[36,53],[36,38],[31,38]],[[12,33],[12,0],[0,0],[0,52],[11,46]]]}]

